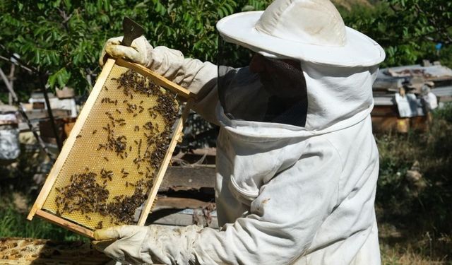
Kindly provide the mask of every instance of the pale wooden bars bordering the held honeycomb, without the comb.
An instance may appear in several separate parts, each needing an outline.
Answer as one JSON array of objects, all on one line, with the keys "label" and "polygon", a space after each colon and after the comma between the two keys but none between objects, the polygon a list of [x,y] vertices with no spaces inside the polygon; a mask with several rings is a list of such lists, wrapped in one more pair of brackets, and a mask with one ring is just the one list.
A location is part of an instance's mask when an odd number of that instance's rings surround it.
[{"label": "pale wooden bars bordering the held honeycomb, without the comb", "polygon": [[57,180],[59,172],[61,171],[61,168],[63,167],[64,162],[66,161],[66,158],[69,155],[69,152],[71,151],[72,146],[76,142],[76,137],[81,132],[83,124],[85,124],[86,120],[88,119],[90,110],[95,105],[97,97],[99,96],[100,91],[102,90],[102,87],[104,86],[105,82],[107,81],[109,73],[112,71],[112,69],[115,65],[123,66],[128,69],[133,69],[134,71],[141,73],[141,75],[150,78],[152,81],[157,83],[157,85],[167,88],[168,90],[172,91],[172,93],[176,93],[180,100],[189,101],[189,103],[187,103],[186,107],[184,108],[182,117],[175,124],[175,129],[173,131],[172,139],[167,148],[167,153],[165,154],[165,158],[162,161],[162,165],[160,166],[159,171],[157,172],[157,175],[155,176],[155,180],[154,180],[155,184],[153,185],[153,188],[150,190],[150,192],[148,194],[148,200],[145,201],[143,210],[141,211],[140,218],[138,219],[137,225],[144,225],[145,220],[148,217],[148,213],[150,212],[151,208],[153,207],[153,202],[155,201],[155,196],[157,196],[158,188],[160,187],[162,178],[165,175],[165,172],[169,165],[169,160],[171,160],[172,152],[174,151],[174,148],[176,147],[177,142],[182,137],[182,129],[183,129],[186,117],[189,114],[189,107],[191,106],[190,102],[191,102],[191,99],[193,98],[194,94],[190,93],[189,90],[182,88],[182,86],[172,83],[171,81],[167,80],[166,78],[158,75],[157,73],[154,73],[153,71],[150,71],[149,69],[146,69],[145,67],[143,67],[141,65],[133,64],[131,62],[124,61],[123,59],[117,59],[117,60],[108,59],[107,62],[105,63],[105,66],[102,69],[100,76],[97,78],[97,81],[95,83],[95,86],[94,86],[90,96],[88,97],[88,100],[85,102],[85,106],[83,107],[81,113],[78,116],[76,124],[73,126],[71,134],[69,135],[68,139],[66,139],[66,143],[64,144],[64,146],[61,150],[61,153],[58,155],[57,161],[55,162],[54,166],[52,167],[52,170],[50,171],[49,176],[47,177],[46,182],[44,183],[44,186],[42,187],[40,194],[37,196],[35,204],[32,206],[30,213],[28,214],[28,217],[27,217],[28,220],[32,220],[33,216],[37,215],[37,216],[40,216],[41,218],[44,218],[45,220],[49,220],[50,222],[52,222],[56,225],[59,225],[63,228],[66,228],[73,232],[77,232],[81,235],[85,235],[85,236],[93,238],[93,234],[94,234],[93,230],[90,230],[81,225],[78,225],[77,223],[73,223],[71,220],[66,220],[64,218],[56,216],[53,213],[43,211],[42,207],[44,205],[44,202],[47,199],[47,196],[49,196],[49,193],[51,192],[52,187],[54,186],[54,183]]}]

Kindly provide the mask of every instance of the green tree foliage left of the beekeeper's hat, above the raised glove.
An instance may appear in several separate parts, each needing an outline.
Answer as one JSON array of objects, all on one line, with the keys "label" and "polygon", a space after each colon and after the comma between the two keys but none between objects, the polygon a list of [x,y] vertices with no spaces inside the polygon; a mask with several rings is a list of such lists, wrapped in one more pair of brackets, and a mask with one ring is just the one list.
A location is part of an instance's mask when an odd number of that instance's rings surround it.
[{"label": "green tree foliage left of the beekeeper's hat, above the raised glove", "polygon": [[[0,3],[0,55],[16,53],[51,88],[84,91],[100,69],[97,59],[109,37],[122,35],[129,16],[144,26],[152,45],[180,49],[186,56],[215,59],[220,18],[263,9],[268,1],[209,0],[4,0]],[[4,65],[4,64],[0,64]]]}]

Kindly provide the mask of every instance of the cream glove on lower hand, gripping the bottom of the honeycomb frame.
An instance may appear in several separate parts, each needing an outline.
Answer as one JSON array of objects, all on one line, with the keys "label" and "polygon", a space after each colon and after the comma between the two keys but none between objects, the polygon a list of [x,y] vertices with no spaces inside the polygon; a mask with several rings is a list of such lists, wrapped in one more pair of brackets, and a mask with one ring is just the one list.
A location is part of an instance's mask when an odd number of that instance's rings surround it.
[{"label": "cream glove on lower hand, gripping the bottom of the honeycomb frame", "polygon": [[121,225],[95,230],[93,246],[108,257],[129,264],[189,264],[198,237],[196,225],[167,228],[161,225]]}]

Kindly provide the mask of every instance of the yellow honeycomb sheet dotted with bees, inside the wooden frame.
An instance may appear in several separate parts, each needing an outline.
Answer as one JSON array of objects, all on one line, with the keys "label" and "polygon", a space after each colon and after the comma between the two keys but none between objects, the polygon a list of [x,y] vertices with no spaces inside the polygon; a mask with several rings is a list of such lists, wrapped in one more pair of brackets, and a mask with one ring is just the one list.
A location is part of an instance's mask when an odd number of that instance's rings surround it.
[{"label": "yellow honeycomb sheet dotted with bees, inside the wooden frame", "polygon": [[147,199],[167,153],[179,105],[175,95],[147,79],[157,93],[144,93],[133,78],[144,77],[113,66],[43,210],[91,230],[136,223],[133,213]]}]

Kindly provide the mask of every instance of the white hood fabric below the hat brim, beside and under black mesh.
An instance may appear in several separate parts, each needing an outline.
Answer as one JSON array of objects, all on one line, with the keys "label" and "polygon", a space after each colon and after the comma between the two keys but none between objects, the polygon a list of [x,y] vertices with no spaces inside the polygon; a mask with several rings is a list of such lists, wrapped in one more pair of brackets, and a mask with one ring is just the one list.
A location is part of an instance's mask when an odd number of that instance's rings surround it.
[{"label": "white hood fabric below the hat brim, beside and under black mesh", "polygon": [[301,66],[308,97],[305,126],[229,119],[218,105],[219,121],[234,134],[281,139],[327,134],[353,126],[369,117],[374,107],[372,84],[378,66],[339,67],[310,62],[301,62]]}]

